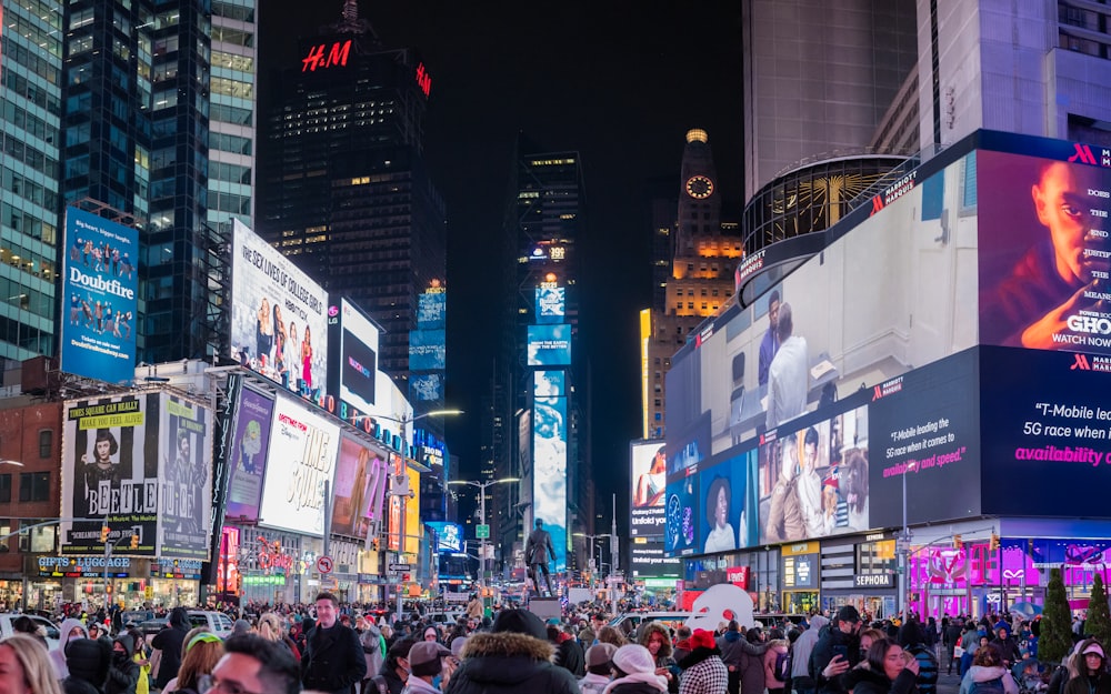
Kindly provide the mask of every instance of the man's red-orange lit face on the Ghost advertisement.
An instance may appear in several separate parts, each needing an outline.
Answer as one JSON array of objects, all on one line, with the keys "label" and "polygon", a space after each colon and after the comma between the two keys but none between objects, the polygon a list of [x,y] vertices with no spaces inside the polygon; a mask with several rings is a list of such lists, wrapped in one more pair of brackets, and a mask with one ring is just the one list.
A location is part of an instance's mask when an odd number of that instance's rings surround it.
[{"label": "man's red-orange lit face on the Ghost advertisement", "polygon": [[1089,219],[1084,199],[1088,181],[1078,167],[1057,162],[1048,167],[1031,194],[1038,220],[1049,228],[1057,271],[1065,281],[1091,281],[1085,269],[1084,235]]}]

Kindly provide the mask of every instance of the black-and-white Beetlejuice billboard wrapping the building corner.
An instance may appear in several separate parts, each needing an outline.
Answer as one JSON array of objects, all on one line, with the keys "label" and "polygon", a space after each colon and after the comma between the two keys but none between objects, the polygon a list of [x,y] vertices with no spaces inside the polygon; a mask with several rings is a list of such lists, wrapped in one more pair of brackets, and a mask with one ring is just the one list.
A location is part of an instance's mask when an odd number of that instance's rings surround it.
[{"label": "black-and-white Beetlejuice billboard wrapping the building corner", "polygon": [[[168,393],[66,403],[63,554],[208,559],[212,412]],[[138,546],[131,549],[131,537]]]}]

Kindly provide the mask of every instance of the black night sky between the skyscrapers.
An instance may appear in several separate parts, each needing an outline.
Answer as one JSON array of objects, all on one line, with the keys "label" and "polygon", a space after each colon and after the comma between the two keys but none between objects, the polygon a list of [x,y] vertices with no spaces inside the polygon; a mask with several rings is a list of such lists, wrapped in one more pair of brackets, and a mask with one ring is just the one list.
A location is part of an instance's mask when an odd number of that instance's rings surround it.
[{"label": "black night sky between the skyscrapers", "polygon": [[[271,71],[300,62],[297,38],[338,21],[343,1],[259,4],[262,104]],[[424,150],[448,208],[447,406],[467,411],[449,419],[447,439],[464,479],[477,474],[499,285],[490,278],[502,272],[487,244],[501,225],[517,132],[580,153],[580,341],[594,378],[593,459],[607,523],[617,492],[623,525],[628,445],[641,433],[638,312],[651,302],[645,184],[671,175],[678,188],[683,137],[702,128],[722,217],[739,218],[740,2],[362,0],[359,11],[386,48],[417,49],[432,77]]]}]

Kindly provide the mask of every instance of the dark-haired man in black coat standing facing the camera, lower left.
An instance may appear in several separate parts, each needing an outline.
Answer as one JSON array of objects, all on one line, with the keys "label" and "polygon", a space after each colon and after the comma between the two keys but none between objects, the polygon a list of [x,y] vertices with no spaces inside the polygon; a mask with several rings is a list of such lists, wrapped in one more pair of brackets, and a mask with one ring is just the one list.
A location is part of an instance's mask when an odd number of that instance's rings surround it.
[{"label": "dark-haired man in black coat standing facing the camera, lower left", "polygon": [[339,602],[331,593],[317,595],[317,625],[306,637],[301,684],[328,694],[350,694],[367,676],[359,635],[336,618]]}]

